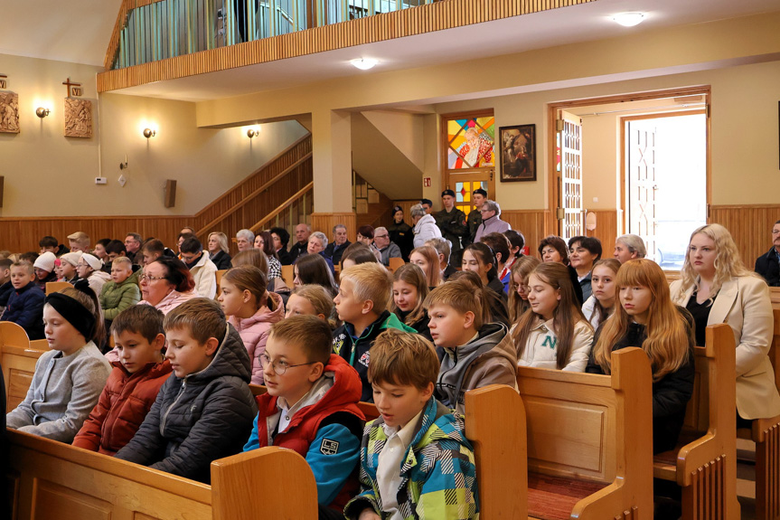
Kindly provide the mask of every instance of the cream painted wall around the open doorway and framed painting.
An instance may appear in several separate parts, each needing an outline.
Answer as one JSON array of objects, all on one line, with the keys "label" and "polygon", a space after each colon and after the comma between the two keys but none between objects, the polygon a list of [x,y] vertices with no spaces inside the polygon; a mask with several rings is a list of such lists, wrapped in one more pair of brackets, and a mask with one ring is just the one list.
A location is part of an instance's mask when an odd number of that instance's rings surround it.
[{"label": "cream painted wall around the open doorway and framed painting", "polygon": [[[777,85],[780,84],[780,61],[769,61],[712,71],[672,74],[643,80],[619,81],[575,89],[548,90],[515,96],[474,99],[437,106],[439,113],[490,109],[495,113],[496,127],[517,124],[536,125],[537,181],[533,183],[500,183],[497,200],[504,209],[540,209],[547,207],[548,150],[554,143],[548,139],[547,104],[566,99],[585,99],[613,94],[663,90],[693,85],[711,85],[711,185],[713,204],[776,203],[774,191],[778,175]],[[596,118],[591,118],[596,119]],[[586,129],[598,133],[587,138],[600,159],[586,162],[585,205],[587,209],[615,209],[617,154],[616,126],[605,120],[587,120]],[[594,141],[599,141],[594,144]],[[616,148],[613,148],[616,150]],[[587,149],[585,151],[587,156]],[[587,159],[586,159],[587,161]],[[593,197],[599,202],[593,203]]]}]

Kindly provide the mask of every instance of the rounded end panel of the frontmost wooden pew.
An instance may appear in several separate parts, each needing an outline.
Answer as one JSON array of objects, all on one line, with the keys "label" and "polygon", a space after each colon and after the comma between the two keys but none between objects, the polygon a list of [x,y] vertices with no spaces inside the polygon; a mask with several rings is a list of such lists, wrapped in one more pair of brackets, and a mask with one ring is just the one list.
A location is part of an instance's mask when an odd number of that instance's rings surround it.
[{"label": "rounded end panel of the frontmost wooden pew", "polygon": [[[282,477],[283,476],[283,477]],[[291,449],[253,449],[211,463],[213,520],[317,517],[315,476]]]}]

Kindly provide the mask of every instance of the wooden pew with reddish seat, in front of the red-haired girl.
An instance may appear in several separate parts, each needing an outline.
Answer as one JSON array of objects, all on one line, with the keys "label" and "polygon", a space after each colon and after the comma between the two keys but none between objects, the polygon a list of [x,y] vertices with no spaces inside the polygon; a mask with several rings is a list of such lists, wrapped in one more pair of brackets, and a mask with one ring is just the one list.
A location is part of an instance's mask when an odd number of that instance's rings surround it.
[{"label": "wooden pew with reddish seat, in front of the red-haired girl", "polygon": [[625,348],[612,363],[611,376],[518,368],[529,517],[653,517],[650,362]]}]

